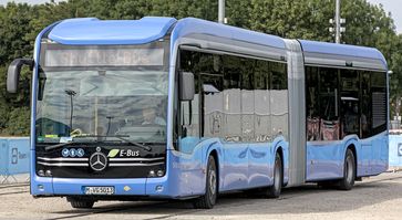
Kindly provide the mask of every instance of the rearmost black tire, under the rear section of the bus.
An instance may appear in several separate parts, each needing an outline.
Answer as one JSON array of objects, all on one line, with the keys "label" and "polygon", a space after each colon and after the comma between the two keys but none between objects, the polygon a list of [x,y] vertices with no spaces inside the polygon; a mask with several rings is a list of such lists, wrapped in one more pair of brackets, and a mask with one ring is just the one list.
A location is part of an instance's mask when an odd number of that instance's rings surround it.
[{"label": "rearmost black tire, under the rear section of the bus", "polygon": [[343,178],[339,181],[339,189],[351,190],[355,179],[355,161],[352,150],[348,149],[343,163]]}]

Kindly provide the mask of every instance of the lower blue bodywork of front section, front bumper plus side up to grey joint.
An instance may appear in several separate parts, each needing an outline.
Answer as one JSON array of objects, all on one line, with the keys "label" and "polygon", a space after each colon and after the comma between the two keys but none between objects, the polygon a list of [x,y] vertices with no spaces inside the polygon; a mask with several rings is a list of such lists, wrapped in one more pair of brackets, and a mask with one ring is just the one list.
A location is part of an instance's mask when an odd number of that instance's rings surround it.
[{"label": "lower blue bodywork of front section, front bumper plus side up to grey joint", "polygon": [[[167,150],[166,176],[161,178],[71,179],[33,175],[31,185],[35,190],[32,195],[84,195],[87,186],[107,186],[115,188],[116,196],[150,196],[155,199],[193,197],[205,193],[207,157],[213,150],[218,156],[220,192],[272,185],[272,165],[275,153],[279,147],[284,150],[284,164],[288,164],[289,160],[288,143],[282,137],[276,138],[272,143],[261,144],[223,144],[219,138],[205,138],[196,145],[193,144],[184,140],[183,147],[188,148],[186,153]],[[234,146],[239,150],[233,150]],[[286,180],[287,170],[286,165],[284,167]],[[44,186],[43,189],[38,190],[38,185]]]}]

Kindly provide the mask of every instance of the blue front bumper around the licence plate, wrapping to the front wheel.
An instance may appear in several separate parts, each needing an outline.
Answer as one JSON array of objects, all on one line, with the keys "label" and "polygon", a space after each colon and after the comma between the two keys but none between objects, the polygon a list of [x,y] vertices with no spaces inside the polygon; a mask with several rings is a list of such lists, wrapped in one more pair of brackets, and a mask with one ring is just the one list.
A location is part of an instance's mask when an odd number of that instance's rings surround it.
[{"label": "blue front bumper around the licence plate, wrapping to the front wheel", "polygon": [[[200,150],[193,157],[167,154],[165,176],[156,178],[56,178],[39,177],[31,168],[31,193],[34,197],[85,196],[85,187],[114,187],[111,199],[179,199],[205,193],[205,174]],[[34,161],[32,161],[34,163]],[[130,190],[127,190],[130,188]]]}]

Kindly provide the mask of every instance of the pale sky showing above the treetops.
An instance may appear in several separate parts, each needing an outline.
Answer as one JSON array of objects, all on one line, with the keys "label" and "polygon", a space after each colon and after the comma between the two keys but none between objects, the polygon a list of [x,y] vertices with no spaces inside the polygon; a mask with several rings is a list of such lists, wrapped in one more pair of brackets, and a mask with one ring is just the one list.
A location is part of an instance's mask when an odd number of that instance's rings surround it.
[{"label": "pale sky showing above the treetops", "polygon": [[[11,0],[0,0],[0,4],[6,4]],[[29,2],[29,3],[43,3],[49,2],[50,0],[13,0],[16,2]],[[55,0],[62,1],[62,0]],[[394,20],[394,23],[396,25],[396,32],[402,34],[402,6],[401,0],[367,0],[370,3],[379,4],[381,3],[384,7],[384,10],[386,12],[391,12],[392,19]],[[342,2],[342,0],[341,0]]]}]

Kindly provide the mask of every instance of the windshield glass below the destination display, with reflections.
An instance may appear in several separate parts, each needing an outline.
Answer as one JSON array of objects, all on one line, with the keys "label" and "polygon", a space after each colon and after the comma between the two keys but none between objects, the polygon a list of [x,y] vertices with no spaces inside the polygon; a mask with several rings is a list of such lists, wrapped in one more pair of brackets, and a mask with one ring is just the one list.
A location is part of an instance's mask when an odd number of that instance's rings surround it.
[{"label": "windshield glass below the destination display, with reflections", "polygon": [[165,142],[167,72],[45,71],[42,75],[47,80],[37,108],[41,139],[126,135]]}]

